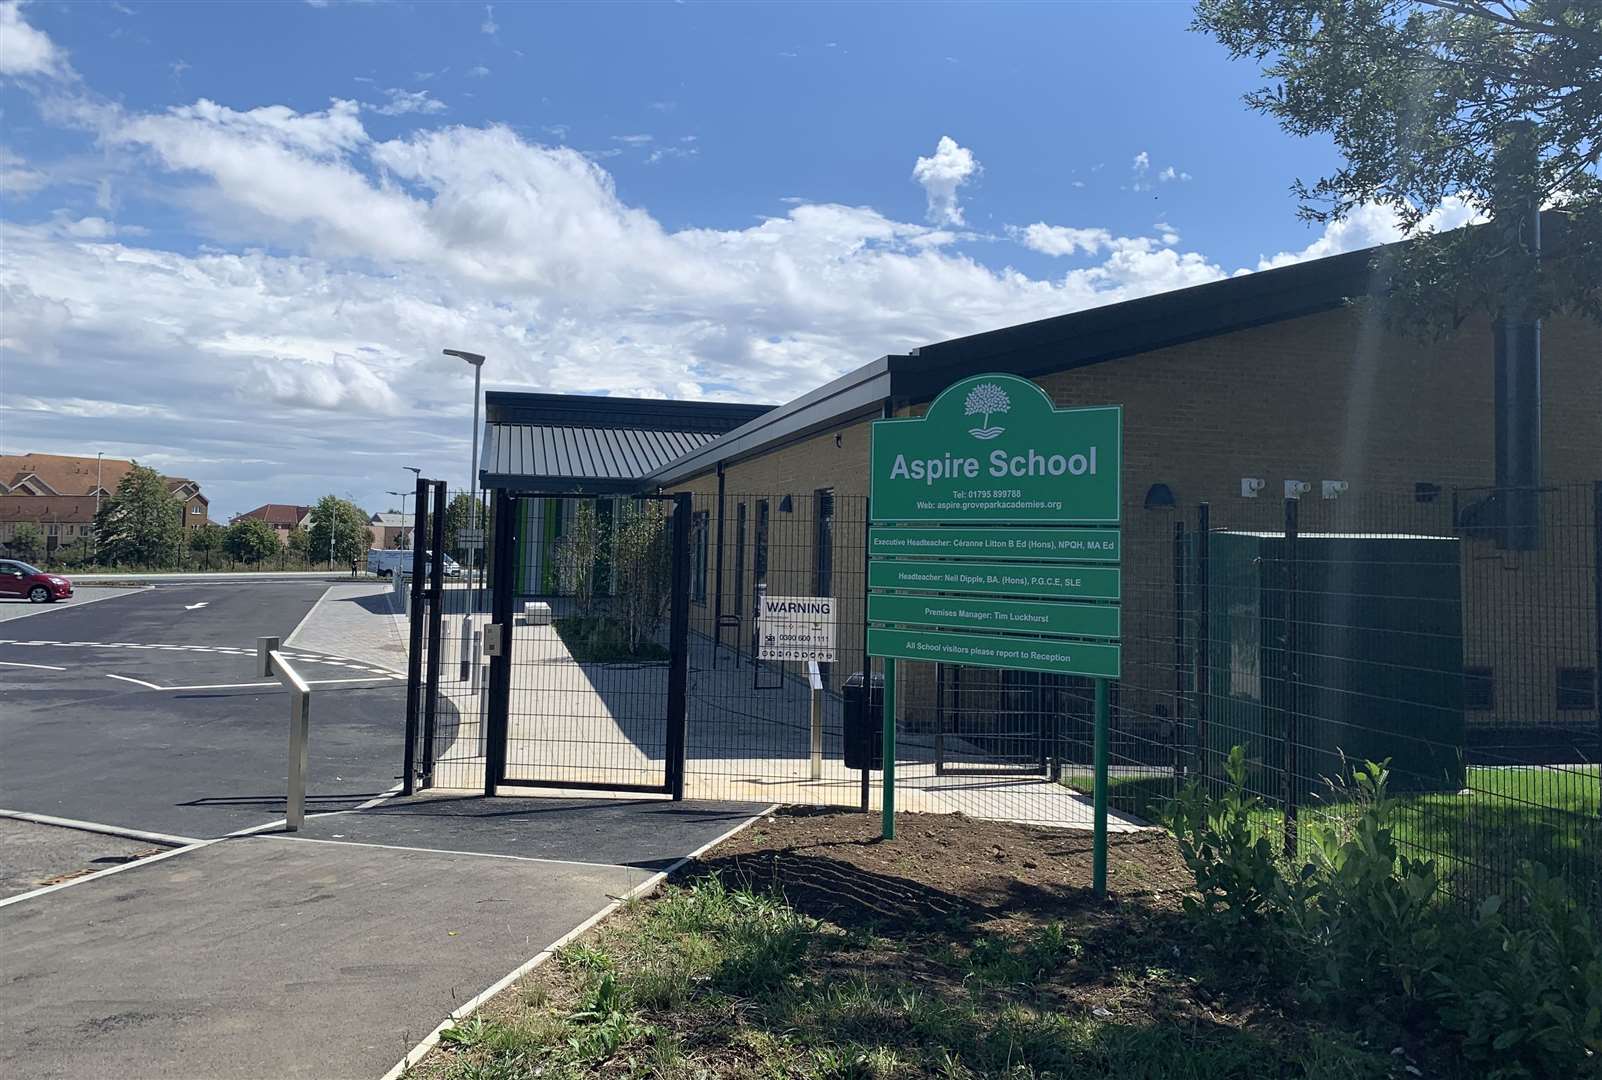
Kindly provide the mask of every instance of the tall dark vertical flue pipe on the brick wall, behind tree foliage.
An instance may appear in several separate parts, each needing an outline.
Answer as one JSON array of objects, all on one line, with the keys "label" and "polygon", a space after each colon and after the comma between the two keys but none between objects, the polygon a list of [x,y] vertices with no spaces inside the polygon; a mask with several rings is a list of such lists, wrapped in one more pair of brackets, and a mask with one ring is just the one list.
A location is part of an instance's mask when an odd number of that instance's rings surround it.
[{"label": "tall dark vertical flue pipe on the brick wall, behind tree foliage", "polygon": [[[1504,244],[1541,256],[1541,202],[1535,191],[1536,128],[1520,125],[1498,157],[1495,221]],[[1541,320],[1527,282],[1512,282],[1491,324],[1495,340],[1498,542],[1512,551],[1541,543]]]}]

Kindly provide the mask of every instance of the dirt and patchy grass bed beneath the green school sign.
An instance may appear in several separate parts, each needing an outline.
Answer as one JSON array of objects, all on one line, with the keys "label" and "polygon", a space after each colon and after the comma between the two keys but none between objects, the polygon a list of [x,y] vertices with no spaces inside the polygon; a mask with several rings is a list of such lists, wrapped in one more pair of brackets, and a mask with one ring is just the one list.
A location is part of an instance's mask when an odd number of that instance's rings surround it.
[{"label": "dirt and patchy grass bed beneath the green school sign", "polygon": [[[447,1032],[412,1075],[1435,1075],[1298,1019],[1181,917],[1166,833],[779,812]],[[1400,1050],[1400,1048],[1399,1048]]]}]

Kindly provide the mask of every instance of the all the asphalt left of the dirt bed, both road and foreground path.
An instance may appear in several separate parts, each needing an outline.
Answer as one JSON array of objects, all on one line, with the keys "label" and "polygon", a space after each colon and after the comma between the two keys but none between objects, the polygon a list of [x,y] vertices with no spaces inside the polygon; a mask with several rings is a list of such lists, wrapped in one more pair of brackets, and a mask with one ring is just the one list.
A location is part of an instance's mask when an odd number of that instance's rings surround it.
[{"label": "all the asphalt left of the dirt bed, both road and foreground path", "polygon": [[[0,843],[0,859],[27,851],[32,873],[61,878],[0,899],[0,1059],[24,1075],[378,1077],[751,814],[394,798],[404,679],[325,633],[293,646],[325,590],[160,585],[0,623],[0,811],[163,838],[29,822]],[[287,695],[253,673],[263,635],[312,684],[314,816],[293,836]],[[88,865],[62,873],[74,859]]]}]

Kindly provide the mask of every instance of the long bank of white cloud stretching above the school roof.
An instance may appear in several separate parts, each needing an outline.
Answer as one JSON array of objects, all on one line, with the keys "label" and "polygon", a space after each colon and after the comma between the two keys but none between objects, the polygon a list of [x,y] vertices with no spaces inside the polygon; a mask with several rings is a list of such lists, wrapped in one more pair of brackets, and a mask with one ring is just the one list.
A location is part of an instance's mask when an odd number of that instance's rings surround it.
[{"label": "long bank of white cloud stretching above the school roof", "polygon": [[352,101],[62,115],[200,244],[151,245],[111,199],[0,223],[8,383],[127,407],[6,401],[0,425],[38,450],[181,455],[219,514],[346,489],[381,502],[404,479],[386,469],[418,455],[460,482],[471,381],[444,345],[485,353],[500,386],[785,401],[884,353],[1224,272],[1166,237],[1046,223],[1022,242],[1081,264],[990,269],[952,228],[979,163],[948,138],[920,159],[934,226],[791,197],[747,228],[670,229],[585,154],[500,125],[383,141]]}]

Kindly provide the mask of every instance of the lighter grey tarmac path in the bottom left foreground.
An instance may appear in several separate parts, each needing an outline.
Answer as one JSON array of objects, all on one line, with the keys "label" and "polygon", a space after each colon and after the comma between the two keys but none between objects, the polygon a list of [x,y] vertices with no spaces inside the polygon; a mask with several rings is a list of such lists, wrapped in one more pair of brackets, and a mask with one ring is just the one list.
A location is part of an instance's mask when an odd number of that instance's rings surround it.
[{"label": "lighter grey tarmac path in the bottom left foreground", "polygon": [[638,867],[227,840],[0,909],[35,1080],[372,1078]]}]

